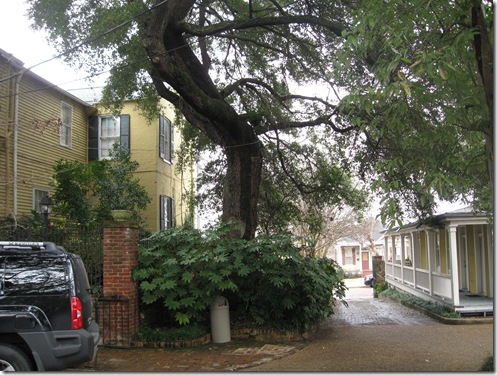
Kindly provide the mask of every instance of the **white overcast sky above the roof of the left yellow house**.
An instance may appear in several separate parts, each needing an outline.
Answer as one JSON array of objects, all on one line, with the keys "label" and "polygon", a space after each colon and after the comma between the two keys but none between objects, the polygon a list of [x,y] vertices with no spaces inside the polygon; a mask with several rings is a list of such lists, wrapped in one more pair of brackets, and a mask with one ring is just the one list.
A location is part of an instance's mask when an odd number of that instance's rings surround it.
[{"label": "white overcast sky above the roof of the left yellow house", "polygon": [[[25,0],[0,0],[0,48],[24,63],[25,68],[31,68],[43,61],[50,60],[57,53],[46,41],[44,32],[34,31],[30,28],[31,22],[26,16],[27,5]],[[64,90],[88,87],[90,84],[84,80],[87,74],[77,71],[61,59],[43,63],[31,69],[34,73],[45,78]],[[101,84],[102,82],[97,82]]]}]

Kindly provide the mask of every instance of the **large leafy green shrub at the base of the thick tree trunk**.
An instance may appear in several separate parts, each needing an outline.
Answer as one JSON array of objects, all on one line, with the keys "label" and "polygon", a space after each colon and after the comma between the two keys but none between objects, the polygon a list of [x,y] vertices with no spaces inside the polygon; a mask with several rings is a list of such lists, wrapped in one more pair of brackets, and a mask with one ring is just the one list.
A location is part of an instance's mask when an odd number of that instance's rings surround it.
[{"label": "large leafy green shrub at the base of the thick tree trunk", "polygon": [[179,324],[206,321],[219,295],[233,321],[258,326],[305,330],[333,313],[345,288],[335,263],[302,256],[289,235],[245,241],[233,230],[172,228],[143,241],[134,270],[143,303]]}]

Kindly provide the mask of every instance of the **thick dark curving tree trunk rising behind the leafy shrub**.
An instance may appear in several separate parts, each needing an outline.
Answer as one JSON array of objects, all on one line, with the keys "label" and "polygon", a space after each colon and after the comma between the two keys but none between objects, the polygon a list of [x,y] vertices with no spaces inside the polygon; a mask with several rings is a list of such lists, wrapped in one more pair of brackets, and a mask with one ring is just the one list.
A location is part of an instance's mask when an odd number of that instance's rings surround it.
[{"label": "thick dark curving tree trunk rising behind the leafy shrub", "polygon": [[224,148],[228,166],[222,220],[240,224],[240,237],[252,239],[257,227],[261,145],[251,125],[220,94],[178,26],[193,3],[170,0],[156,8],[143,44],[154,66],[151,76],[159,94],[174,103],[212,142]]}]

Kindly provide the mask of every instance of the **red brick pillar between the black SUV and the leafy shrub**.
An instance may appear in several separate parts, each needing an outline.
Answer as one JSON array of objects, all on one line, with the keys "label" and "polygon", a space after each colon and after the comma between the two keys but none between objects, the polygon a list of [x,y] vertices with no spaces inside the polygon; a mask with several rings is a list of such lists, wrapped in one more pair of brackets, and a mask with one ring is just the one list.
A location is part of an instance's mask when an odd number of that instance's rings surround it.
[{"label": "red brick pillar between the black SUV and the leafy shrub", "polygon": [[132,278],[138,263],[138,224],[106,222],[103,258],[103,297],[99,302],[103,344],[129,346],[139,316],[138,285]]}]

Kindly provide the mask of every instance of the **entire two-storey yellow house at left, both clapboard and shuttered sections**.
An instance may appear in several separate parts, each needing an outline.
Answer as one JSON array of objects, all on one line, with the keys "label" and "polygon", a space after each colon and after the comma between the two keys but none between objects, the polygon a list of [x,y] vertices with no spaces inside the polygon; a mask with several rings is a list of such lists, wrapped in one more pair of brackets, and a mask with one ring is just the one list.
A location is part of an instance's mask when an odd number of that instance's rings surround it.
[{"label": "entire two-storey yellow house at left, both clapboard and shuttered sections", "polygon": [[98,109],[25,70],[0,49],[0,215],[40,212],[58,160],[105,158],[120,142],[140,164],[136,177],[152,199],[142,213],[147,229],[181,225],[187,214],[183,195],[193,188],[195,166],[175,170],[181,138],[172,108],[164,102],[160,118],[148,124],[135,104],[126,102],[119,115]]}]

